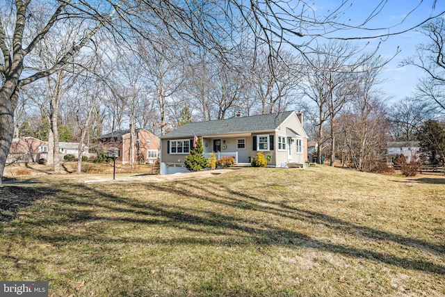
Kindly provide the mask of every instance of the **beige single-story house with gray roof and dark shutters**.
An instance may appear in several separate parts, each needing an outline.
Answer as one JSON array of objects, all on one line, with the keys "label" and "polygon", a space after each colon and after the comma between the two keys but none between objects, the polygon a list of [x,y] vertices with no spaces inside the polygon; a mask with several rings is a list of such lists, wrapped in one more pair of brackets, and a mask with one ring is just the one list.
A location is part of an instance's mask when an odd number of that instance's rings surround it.
[{"label": "beige single-story house with gray roof and dark shutters", "polygon": [[161,136],[161,174],[186,172],[184,161],[193,138],[202,137],[204,156],[234,156],[236,166],[250,166],[263,152],[270,167],[305,166],[307,135],[302,113],[286,111],[267,115],[191,122]]}]

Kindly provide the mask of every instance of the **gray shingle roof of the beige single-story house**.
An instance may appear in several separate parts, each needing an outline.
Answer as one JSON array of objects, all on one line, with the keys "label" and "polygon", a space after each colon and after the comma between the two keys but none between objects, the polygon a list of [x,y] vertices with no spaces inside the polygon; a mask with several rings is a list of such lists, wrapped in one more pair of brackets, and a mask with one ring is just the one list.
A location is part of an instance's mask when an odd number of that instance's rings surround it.
[{"label": "gray shingle roof of the beige single-story house", "polygon": [[252,131],[273,131],[282,124],[293,111],[270,113],[267,115],[251,115],[225,120],[210,120],[207,122],[191,122],[179,127],[161,138],[207,136],[215,134],[231,134]]}]

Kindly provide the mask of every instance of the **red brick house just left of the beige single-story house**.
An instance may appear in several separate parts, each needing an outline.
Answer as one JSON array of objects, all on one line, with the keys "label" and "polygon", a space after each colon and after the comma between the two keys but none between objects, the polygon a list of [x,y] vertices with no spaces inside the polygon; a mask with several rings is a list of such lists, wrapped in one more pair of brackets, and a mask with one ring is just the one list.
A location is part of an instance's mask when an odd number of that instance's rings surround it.
[{"label": "red brick house just left of the beige single-story house", "polygon": [[131,152],[134,160],[139,163],[156,163],[159,156],[159,138],[145,129],[134,129],[134,143],[131,149],[130,129],[113,131],[99,137],[99,150],[107,152],[116,150],[116,161],[123,164],[131,162]]}]

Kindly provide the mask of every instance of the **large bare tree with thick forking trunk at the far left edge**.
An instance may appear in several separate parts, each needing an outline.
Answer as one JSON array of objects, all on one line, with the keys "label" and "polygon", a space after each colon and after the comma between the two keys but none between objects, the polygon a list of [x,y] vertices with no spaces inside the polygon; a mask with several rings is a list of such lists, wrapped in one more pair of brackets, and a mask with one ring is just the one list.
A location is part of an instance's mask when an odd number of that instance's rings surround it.
[{"label": "large bare tree with thick forking trunk at the far left edge", "polygon": [[[8,7],[2,4],[0,14],[0,49],[1,58],[0,74],[0,186],[6,156],[13,139],[14,112],[21,88],[33,81],[47,77],[60,70],[75,54],[85,47],[93,35],[101,29],[114,14],[113,8],[108,6],[102,10],[103,14],[97,15],[102,22],[84,22],[84,30],[71,40],[65,40],[67,47],[60,58],[49,67],[40,68],[33,72],[24,72],[28,61],[27,56],[35,50],[39,42],[47,37],[50,31],[54,31],[56,24],[70,22],[70,16],[76,19],[90,19],[91,14],[86,10],[77,10],[70,5],[70,1],[45,3],[32,3],[31,1],[16,0]],[[99,12],[103,6],[97,7]],[[62,15],[64,17],[62,17]],[[97,19],[99,21],[99,19]],[[30,26],[31,25],[31,26]]]}]

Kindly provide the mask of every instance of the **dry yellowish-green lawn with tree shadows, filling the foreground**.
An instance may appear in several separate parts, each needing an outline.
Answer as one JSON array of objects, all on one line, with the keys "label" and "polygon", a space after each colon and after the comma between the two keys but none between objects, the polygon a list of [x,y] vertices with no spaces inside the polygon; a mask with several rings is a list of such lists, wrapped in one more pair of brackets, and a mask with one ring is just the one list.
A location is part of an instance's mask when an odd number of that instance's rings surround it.
[{"label": "dry yellowish-green lawn with tree shadows, filling the foreground", "polygon": [[0,279],[52,296],[445,296],[442,176],[33,180],[47,195],[1,223]]}]

